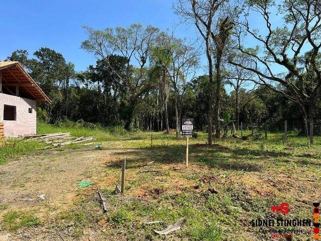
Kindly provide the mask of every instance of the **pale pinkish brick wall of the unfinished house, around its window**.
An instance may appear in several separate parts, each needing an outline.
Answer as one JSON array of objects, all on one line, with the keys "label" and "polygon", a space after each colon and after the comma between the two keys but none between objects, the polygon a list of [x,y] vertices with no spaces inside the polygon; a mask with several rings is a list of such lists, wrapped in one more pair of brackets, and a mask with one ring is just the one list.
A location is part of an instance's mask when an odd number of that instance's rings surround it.
[{"label": "pale pinkish brick wall of the unfinished house, around its window", "polygon": [[[4,121],[4,105],[16,106],[16,121]],[[0,93],[0,123],[4,123],[6,137],[36,134],[37,103],[35,100]],[[32,108],[32,113],[29,113]]]}]

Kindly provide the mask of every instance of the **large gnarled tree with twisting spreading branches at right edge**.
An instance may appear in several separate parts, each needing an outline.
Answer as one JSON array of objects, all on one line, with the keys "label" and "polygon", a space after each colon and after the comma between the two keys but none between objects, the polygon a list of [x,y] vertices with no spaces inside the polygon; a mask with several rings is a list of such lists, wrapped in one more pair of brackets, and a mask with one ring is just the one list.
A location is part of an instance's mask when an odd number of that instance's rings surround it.
[{"label": "large gnarled tree with twisting spreading branches at right edge", "polygon": [[[248,56],[252,64],[246,66],[233,59],[230,63],[252,71],[257,75],[256,83],[282,93],[300,106],[310,146],[314,107],[321,91],[321,4],[318,0],[282,0],[277,14],[284,22],[274,28],[271,23],[274,1],[251,0],[246,4],[244,20],[238,21],[240,31],[235,34],[236,49]],[[251,29],[248,16],[253,13],[265,22],[264,34]],[[260,45],[243,47],[244,32]]]}]

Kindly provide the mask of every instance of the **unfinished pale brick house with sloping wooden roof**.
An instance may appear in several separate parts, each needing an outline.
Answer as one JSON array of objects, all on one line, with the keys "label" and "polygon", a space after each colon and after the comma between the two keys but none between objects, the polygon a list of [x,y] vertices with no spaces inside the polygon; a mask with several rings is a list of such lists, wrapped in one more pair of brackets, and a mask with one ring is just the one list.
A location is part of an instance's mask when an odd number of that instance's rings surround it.
[{"label": "unfinished pale brick house with sloping wooden roof", "polygon": [[19,62],[0,61],[0,137],[36,134],[37,102],[51,100]]}]

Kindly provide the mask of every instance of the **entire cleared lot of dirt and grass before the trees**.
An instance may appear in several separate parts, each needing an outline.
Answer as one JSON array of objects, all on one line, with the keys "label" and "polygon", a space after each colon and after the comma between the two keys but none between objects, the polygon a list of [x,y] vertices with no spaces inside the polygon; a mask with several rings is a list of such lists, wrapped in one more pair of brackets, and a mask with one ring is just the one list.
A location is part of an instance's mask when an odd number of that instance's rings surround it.
[{"label": "entire cleared lot of dirt and grass before the trees", "polygon": [[[250,226],[252,219],[310,219],[321,193],[321,139],[307,149],[304,138],[293,134],[286,144],[281,138],[228,139],[209,147],[199,133],[190,139],[189,168],[185,139],[161,133],[153,134],[152,147],[150,133],[136,133],[99,140],[101,150],[93,144],[15,158],[0,166],[0,234],[10,234],[9,240],[270,240]],[[124,159],[121,196],[114,190]],[[282,202],[289,213],[272,213]],[[177,232],[153,231],[184,216]],[[296,228],[302,232],[292,240],[312,240],[312,227]]]}]

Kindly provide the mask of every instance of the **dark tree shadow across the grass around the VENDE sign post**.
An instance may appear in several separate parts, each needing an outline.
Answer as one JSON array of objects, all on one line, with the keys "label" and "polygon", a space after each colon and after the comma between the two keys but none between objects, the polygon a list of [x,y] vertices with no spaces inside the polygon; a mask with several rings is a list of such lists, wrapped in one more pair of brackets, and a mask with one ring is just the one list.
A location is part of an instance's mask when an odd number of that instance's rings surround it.
[{"label": "dark tree shadow across the grass around the VENDE sign post", "polygon": [[[141,162],[155,161],[159,163],[182,163],[185,159],[186,149],[183,145],[158,145],[145,148],[128,148],[117,152],[117,155],[135,156],[127,159],[128,168],[139,168]],[[274,151],[255,151],[248,148],[235,149],[221,145],[193,144],[189,149],[190,160],[199,165],[222,170],[242,170],[260,172],[264,161],[270,157],[287,157],[291,154]],[[138,164],[139,163],[139,164]],[[120,164],[112,165],[119,168]],[[110,166],[110,167],[112,167]]]}]

